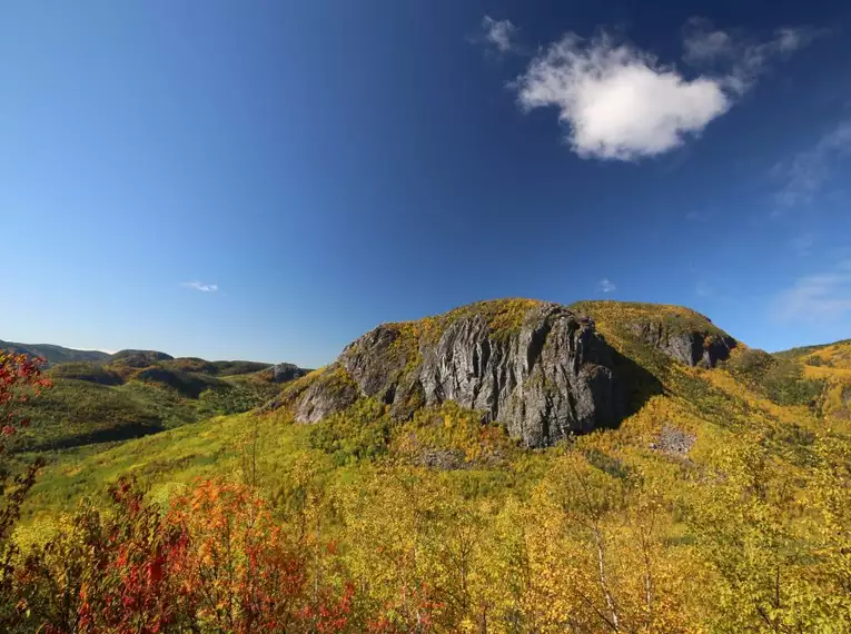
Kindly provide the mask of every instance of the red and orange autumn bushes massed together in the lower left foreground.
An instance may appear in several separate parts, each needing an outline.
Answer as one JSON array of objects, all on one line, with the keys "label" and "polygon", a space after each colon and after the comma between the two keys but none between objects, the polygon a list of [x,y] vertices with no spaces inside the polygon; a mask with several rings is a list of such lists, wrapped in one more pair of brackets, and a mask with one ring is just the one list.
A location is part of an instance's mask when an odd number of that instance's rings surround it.
[{"label": "red and orange autumn bushes massed together in the lower left foreground", "polygon": [[310,579],[303,545],[288,538],[254,491],[202,482],[166,514],[128,479],[111,495],[115,513],[81,511],[72,531],[27,558],[18,588],[33,627],[80,634],[346,630],[354,586],[338,591]]}]

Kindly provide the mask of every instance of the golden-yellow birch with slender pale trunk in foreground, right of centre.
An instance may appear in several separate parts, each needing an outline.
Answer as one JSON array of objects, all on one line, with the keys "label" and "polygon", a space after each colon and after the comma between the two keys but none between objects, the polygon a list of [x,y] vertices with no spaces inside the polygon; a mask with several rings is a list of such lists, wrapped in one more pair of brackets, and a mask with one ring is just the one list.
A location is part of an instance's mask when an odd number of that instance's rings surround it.
[{"label": "golden-yellow birch with slender pale trunk in foreground, right of centre", "polygon": [[533,494],[524,519],[526,631],[693,631],[689,556],[666,544],[660,496],[616,460],[603,466],[566,450]]}]

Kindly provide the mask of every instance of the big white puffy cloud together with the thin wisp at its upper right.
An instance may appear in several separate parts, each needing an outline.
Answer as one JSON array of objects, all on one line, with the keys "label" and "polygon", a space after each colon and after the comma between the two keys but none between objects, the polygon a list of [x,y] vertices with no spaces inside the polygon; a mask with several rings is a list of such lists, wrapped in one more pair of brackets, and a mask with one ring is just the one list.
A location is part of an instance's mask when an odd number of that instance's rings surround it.
[{"label": "big white puffy cloud together with the thin wisp at its upper right", "polygon": [[721,61],[725,73],[687,79],[673,66],[603,33],[584,40],[566,33],[532,60],[511,86],[525,111],[555,107],[567,141],[581,157],[637,160],[661,155],[700,135],[726,112],[769,58],[803,46],[803,31],[784,30],[771,42],[740,46],[732,36],[695,22],[686,58]]}]

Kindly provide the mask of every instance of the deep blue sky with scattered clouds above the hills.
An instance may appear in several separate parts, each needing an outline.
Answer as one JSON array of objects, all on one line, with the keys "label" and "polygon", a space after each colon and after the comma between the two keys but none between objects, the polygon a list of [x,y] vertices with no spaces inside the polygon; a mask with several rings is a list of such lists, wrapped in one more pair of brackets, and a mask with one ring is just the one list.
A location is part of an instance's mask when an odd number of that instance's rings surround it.
[{"label": "deep blue sky with scattered clouds above the hills", "polygon": [[316,366],[477,299],[851,337],[847,2],[10,0],[0,338]]}]

